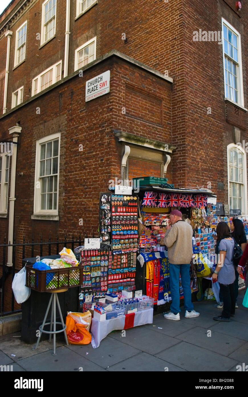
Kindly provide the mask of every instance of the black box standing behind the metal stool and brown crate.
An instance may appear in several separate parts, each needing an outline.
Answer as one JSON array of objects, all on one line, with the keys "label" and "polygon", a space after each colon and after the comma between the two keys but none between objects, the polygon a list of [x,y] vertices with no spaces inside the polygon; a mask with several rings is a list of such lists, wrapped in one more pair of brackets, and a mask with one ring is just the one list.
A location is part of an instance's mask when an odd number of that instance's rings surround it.
[{"label": "black box standing behind the metal stool and brown crate", "polygon": [[[41,256],[40,260],[43,258],[57,259],[60,255],[51,256]],[[34,264],[36,262],[35,258],[24,258],[22,265]],[[61,307],[61,312],[63,319],[67,316],[67,312],[78,312],[78,294],[79,287],[71,287],[68,291],[58,293],[59,304]],[[22,308],[22,322],[21,322],[21,338],[27,343],[35,343],[37,341],[37,331],[39,326],[42,324],[46,309],[49,303],[51,294],[47,292],[37,292],[31,289],[31,294],[29,299],[21,304]],[[59,312],[56,310],[56,321],[60,322]],[[51,307],[46,319],[46,322],[50,322],[51,318]],[[48,326],[45,330],[48,330]],[[56,335],[56,338],[63,337],[63,332]],[[41,340],[48,339],[49,335],[42,333]]]}]

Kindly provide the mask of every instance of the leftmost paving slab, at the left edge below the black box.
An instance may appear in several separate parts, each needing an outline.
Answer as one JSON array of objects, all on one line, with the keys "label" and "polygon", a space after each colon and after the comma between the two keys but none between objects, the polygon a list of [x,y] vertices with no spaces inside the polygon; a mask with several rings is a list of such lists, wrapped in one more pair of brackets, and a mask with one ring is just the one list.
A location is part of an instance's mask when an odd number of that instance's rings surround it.
[{"label": "leftmost paving slab, at the left edge below the black box", "polygon": [[[63,345],[65,345],[65,340],[59,340],[56,338],[56,347]],[[32,350],[33,347],[35,347],[35,343],[29,345],[28,343],[23,342],[21,337],[18,337],[18,333],[0,337],[0,349],[13,361],[17,361],[21,358],[32,357],[36,354],[53,349],[53,339],[52,342],[48,342],[48,340],[41,341],[36,350]],[[11,356],[11,354],[15,354],[15,357]]]}]

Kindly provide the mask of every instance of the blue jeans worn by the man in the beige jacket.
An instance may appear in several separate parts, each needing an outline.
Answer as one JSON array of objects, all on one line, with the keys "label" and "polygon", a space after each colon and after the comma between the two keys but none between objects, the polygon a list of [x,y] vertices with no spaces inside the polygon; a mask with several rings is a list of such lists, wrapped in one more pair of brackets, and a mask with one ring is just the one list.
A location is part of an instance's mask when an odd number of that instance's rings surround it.
[{"label": "blue jeans worn by the man in the beige jacket", "polygon": [[172,296],[172,304],[170,310],[172,313],[180,313],[180,293],[179,293],[179,273],[181,274],[181,283],[183,288],[184,308],[185,310],[193,310],[194,306],[191,302],[190,287],[190,264],[174,265],[170,263],[170,293]]}]

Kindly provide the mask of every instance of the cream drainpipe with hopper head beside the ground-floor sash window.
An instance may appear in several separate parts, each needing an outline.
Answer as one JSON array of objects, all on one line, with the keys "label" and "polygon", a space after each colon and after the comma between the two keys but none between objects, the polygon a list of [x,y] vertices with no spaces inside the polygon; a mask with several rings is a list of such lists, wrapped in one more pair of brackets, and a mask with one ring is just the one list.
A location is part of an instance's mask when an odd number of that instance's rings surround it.
[{"label": "cream drainpipe with hopper head beside the ground-floor sash window", "polygon": [[[14,209],[15,209],[15,172],[16,172],[16,156],[17,156],[17,140],[21,133],[21,127],[14,125],[9,128],[10,135],[13,137],[13,154],[11,161],[11,177],[10,177],[10,212],[9,212],[9,244],[13,244],[13,229],[14,229]],[[13,266],[12,263],[12,247],[8,247],[8,262],[7,266]]]}]

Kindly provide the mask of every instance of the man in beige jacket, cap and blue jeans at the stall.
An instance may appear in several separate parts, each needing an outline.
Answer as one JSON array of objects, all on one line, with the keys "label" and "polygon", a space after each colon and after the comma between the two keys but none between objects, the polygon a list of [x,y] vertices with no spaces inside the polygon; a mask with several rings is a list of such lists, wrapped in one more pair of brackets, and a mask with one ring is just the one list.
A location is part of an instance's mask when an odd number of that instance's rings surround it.
[{"label": "man in beige jacket, cap and blue jeans at the stall", "polygon": [[193,229],[191,225],[182,220],[182,213],[173,210],[169,215],[170,225],[166,226],[166,233],[160,245],[168,247],[168,259],[170,266],[170,293],[172,304],[170,312],[164,314],[164,318],[169,320],[180,320],[180,293],[179,293],[179,274],[181,275],[181,284],[183,288],[185,317],[198,317],[200,313],[193,309],[191,301],[191,287],[189,268],[192,258],[192,236]]}]

